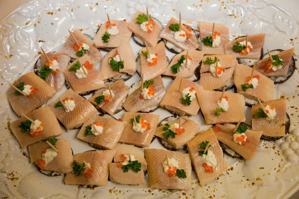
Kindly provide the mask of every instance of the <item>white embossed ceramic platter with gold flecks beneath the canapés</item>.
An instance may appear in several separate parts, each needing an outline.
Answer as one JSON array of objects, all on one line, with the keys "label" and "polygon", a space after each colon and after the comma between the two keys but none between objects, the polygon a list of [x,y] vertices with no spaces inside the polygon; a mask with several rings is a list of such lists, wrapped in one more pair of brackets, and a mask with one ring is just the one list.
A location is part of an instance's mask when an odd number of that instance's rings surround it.
[{"label": "white embossed ceramic platter with gold flecks beneath the canap\u00e9s", "polygon": [[[11,1],[11,3],[13,3]],[[80,199],[143,199],[143,198],[238,198],[278,199],[287,198],[298,187],[299,179],[299,130],[298,90],[299,72],[287,82],[276,85],[275,98],[288,99],[288,113],[291,115],[291,134],[284,139],[269,142],[260,141],[258,152],[251,161],[232,159],[225,155],[229,165],[227,172],[205,187],[200,187],[195,173],[192,173],[192,188],[189,191],[167,191],[150,189],[146,186],[125,186],[108,182],[105,187],[93,190],[64,185],[63,177],[47,177],[29,163],[27,149],[21,149],[9,131],[9,122],[17,119],[6,97],[8,83],[32,70],[40,53],[40,46],[46,52],[57,50],[69,35],[68,29],[83,29],[84,33],[95,35],[98,25],[105,22],[106,12],[112,19],[131,21],[137,10],[146,10],[164,24],[171,16],[196,28],[198,20],[223,23],[229,27],[230,38],[255,33],[267,33],[264,49],[289,49],[299,52],[297,0],[32,0],[0,21],[0,197],[1,198],[80,198]],[[289,10],[286,11],[286,10]],[[295,13],[295,14],[292,14]],[[140,50],[131,39],[135,56]],[[166,50],[167,51],[167,50]],[[102,54],[106,53],[102,51]],[[167,51],[171,58],[174,54]],[[295,57],[297,57],[297,55]],[[298,57],[297,57],[298,58]],[[297,63],[299,64],[299,63]],[[100,66],[97,66],[99,69]],[[140,80],[136,74],[126,82],[131,86]],[[172,79],[163,77],[168,89]],[[59,92],[61,95],[66,91]],[[56,99],[56,97],[54,97]],[[49,101],[50,102],[50,101]],[[48,103],[49,103],[48,102]],[[250,124],[251,109],[246,108],[246,122]],[[171,114],[162,108],[154,111],[160,120]],[[122,118],[124,110],[116,115]],[[201,114],[191,117],[201,126],[205,125]],[[76,139],[79,130],[71,130],[59,136],[71,142],[74,154],[92,150],[87,143]],[[150,148],[163,147],[157,140]]]}]

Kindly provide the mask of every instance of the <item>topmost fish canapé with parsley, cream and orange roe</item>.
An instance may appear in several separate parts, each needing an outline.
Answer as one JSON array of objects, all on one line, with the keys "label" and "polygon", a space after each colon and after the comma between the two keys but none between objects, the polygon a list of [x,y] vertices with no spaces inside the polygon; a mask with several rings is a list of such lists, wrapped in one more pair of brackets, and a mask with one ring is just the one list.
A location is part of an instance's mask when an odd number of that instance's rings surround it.
[{"label": "topmost fish canap\u00e9 with parsley, cream and orange roe", "polygon": [[[161,28],[152,19],[150,21],[138,20],[139,15],[147,16],[145,13],[137,11],[129,24],[129,29],[143,42],[147,42],[149,47],[155,47],[158,43]],[[143,25],[145,25],[144,29],[141,28]]]}]

